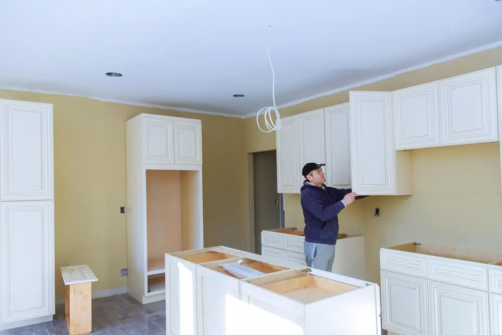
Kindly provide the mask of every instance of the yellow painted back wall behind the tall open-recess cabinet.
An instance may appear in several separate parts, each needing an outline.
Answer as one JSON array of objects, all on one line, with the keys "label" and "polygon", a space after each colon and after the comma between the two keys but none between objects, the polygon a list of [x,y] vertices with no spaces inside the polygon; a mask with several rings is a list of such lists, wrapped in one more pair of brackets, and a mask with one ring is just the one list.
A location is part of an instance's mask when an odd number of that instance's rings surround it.
[{"label": "yellow painted back wall behind the tall open-recess cabinet", "polygon": [[204,244],[244,248],[247,220],[243,122],[82,97],[0,90],[0,98],[54,104],[56,299],[60,267],[88,264],[93,291],[127,287],[126,120],[162,114],[202,121]]}]

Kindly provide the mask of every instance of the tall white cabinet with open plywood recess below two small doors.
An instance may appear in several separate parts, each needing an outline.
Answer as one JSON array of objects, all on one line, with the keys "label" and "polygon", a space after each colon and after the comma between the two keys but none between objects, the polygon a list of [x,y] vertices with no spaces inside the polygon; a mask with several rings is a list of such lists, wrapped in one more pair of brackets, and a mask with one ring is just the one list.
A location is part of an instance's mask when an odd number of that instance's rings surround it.
[{"label": "tall white cabinet with open plywood recess below two small doors", "polygon": [[166,253],[202,248],[200,121],[139,115],[126,124],[128,291],[165,298]]}]

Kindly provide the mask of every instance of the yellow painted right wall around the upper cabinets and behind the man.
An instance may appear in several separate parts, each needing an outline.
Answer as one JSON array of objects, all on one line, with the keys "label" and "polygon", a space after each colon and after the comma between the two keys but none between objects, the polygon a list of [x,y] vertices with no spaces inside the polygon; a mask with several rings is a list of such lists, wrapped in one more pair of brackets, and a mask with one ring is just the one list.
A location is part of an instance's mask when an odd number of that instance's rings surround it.
[{"label": "yellow painted right wall around the upper cabinets and behind the man", "polygon": [[[414,70],[352,90],[392,91],[502,65],[502,47]],[[349,91],[279,110],[291,116],[348,102]],[[247,152],[275,149],[275,134],[260,132],[256,117],[244,120]],[[412,151],[411,196],[371,196],[339,215],[340,231],[362,233],[367,279],[380,283],[381,247],[412,241],[502,251],[499,144],[487,143]],[[380,216],[374,217],[374,208]],[[287,227],[303,228],[299,194],[285,195]]]}]

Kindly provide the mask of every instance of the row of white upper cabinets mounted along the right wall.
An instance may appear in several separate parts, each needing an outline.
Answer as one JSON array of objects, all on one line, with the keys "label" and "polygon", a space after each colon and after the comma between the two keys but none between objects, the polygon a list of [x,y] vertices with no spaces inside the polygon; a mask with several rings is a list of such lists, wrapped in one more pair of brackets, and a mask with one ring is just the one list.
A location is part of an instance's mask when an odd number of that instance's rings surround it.
[{"label": "row of white upper cabinets mounted along the right wall", "polygon": [[300,193],[301,168],[317,162],[326,163],[328,186],[412,194],[410,150],[500,142],[501,105],[502,66],[395,91],[350,91],[346,103],[282,118],[278,192]]}]

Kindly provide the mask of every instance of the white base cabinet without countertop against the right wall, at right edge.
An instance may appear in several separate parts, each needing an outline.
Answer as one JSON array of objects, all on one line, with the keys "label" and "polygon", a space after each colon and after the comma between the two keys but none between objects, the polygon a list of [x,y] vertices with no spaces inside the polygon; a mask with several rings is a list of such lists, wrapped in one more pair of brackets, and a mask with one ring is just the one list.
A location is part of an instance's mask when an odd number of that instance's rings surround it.
[{"label": "white base cabinet without countertop against the right wall, at right edge", "polygon": [[502,254],[409,243],[380,252],[383,328],[400,335],[500,335]]}]

